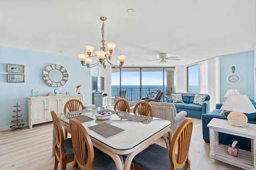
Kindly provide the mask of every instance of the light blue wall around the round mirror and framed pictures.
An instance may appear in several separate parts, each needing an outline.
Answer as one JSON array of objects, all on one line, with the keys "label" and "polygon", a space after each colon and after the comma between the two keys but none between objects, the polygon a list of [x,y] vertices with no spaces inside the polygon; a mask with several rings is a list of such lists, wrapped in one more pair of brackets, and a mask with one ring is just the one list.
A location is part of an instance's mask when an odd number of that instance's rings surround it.
[{"label": "light blue wall around the round mirror and framed pictures", "polygon": [[[7,83],[7,64],[25,65],[25,83]],[[13,106],[16,102],[21,105],[19,114],[24,119],[22,123],[28,121],[27,97],[30,97],[30,89],[33,89],[34,95],[36,90],[39,96],[54,94],[56,88],[48,86],[42,78],[42,71],[49,64],[60,64],[68,72],[68,82],[57,88],[62,94],[76,94],[76,86],[82,85],[80,93],[84,94],[84,104],[92,104],[98,67],[82,66],[78,58],[0,46],[0,127],[14,125],[11,121],[14,120],[12,115],[15,114]]]}]

